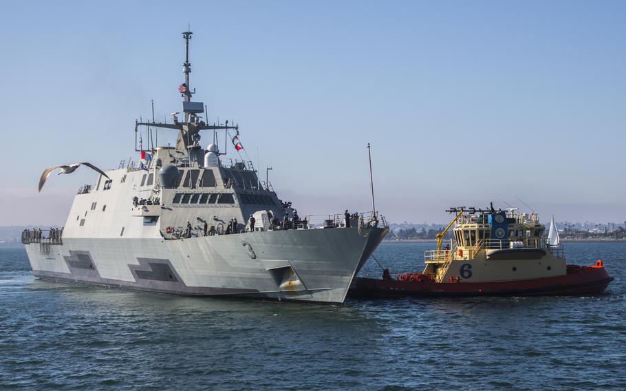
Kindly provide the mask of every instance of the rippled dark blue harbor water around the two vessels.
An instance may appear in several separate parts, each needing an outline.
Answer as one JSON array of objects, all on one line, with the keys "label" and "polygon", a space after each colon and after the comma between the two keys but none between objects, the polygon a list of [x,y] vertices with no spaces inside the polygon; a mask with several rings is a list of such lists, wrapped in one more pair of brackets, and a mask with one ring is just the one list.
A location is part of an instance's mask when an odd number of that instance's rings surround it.
[{"label": "rippled dark blue harbor water around the two vessels", "polygon": [[[382,244],[392,274],[432,244]],[[597,297],[402,299],[343,306],[174,297],[35,279],[0,248],[0,389],[626,389],[626,244]],[[372,262],[363,274],[380,275]]]}]

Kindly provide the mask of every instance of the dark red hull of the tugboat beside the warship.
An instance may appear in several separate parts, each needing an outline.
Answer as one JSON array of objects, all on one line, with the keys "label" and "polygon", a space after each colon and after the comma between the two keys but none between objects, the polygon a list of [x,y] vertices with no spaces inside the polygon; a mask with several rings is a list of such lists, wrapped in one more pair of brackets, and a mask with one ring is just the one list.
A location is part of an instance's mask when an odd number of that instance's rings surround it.
[{"label": "dark red hull of the tugboat beside the warship", "polygon": [[357,277],[348,295],[354,298],[590,295],[602,293],[612,281],[604,266],[568,265],[566,275],[518,281],[431,282]]}]

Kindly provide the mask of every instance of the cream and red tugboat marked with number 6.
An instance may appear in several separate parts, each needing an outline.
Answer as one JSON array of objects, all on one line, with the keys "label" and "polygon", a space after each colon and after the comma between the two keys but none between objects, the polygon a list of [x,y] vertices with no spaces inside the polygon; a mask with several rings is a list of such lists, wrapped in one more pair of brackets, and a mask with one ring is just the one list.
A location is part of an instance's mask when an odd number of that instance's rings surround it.
[{"label": "cream and red tugboat marked with number 6", "polygon": [[[567,264],[554,226],[537,213],[475,208],[451,208],[455,218],[437,235],[437,249],[426,251],[422,273],[385,269],[382,279],[355,278],[350,297],[410,296],[532,296],[602,293],[613,277],[603,262],[592,266]],[[456,224],[455,224],[456,223]],[[442,249],[446,232],[455,224],[451,244]]]}]

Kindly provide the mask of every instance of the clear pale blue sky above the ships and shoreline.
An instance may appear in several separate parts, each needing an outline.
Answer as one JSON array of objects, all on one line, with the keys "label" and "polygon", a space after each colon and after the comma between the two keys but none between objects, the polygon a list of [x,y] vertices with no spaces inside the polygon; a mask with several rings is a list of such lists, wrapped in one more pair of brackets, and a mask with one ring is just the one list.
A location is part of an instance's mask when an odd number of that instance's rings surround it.
[{"label": "clear pale blue sky above the ships and shoreline", "polygon": [[625,17],[624,1],[6,2],[0,225],[63,224],[96,176],[38,194],[45,167],[117,168],[151,98],[180,111],[187,23],[197,100],[302,215],[368,209],[371,142],[392,221],[518,197],[543,220],[620,222]]}]

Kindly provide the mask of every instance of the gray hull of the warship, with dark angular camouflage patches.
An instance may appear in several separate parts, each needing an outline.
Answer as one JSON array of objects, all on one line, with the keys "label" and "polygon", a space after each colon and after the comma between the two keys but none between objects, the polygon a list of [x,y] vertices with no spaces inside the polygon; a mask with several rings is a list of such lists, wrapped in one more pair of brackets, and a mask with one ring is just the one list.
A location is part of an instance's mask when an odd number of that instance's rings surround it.
[{"label": "gray hull of the warship, with dark angular camouflage patches", "polygon": [[26,244],[34,275],[179,295],[342,303],[387,229],[308,229],[182,240],[72,238]]}]

